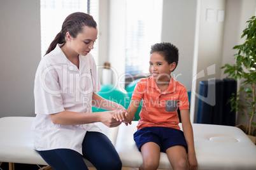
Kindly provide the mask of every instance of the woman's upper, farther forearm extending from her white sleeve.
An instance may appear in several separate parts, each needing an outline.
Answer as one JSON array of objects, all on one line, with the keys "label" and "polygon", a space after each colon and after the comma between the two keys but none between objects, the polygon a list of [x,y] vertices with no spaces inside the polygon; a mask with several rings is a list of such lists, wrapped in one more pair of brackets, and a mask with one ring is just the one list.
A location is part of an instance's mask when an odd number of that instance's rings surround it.
[{"label": "woman's upper, farther forearm extending from her white sleeve", "polygon": [[126,110],[122,105],[115,103],[114,101],[106,100],[106,98],[97,95],[97,93],[92,94],[92,106],[97,108],[103,108],[105,110]]}]

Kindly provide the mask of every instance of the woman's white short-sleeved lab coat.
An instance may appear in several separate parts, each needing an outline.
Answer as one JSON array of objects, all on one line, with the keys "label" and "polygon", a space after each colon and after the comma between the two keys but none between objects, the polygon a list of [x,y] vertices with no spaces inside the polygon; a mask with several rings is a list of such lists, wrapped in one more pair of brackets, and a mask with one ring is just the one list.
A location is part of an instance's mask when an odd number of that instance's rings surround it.
[{"label": "woman's white short-sleeved lab coat", "polygon": [[101,90],[94,58],[89,53],[79,56],[80,66],[71,63],[58,44],[39,63],[34,81],[36,118],[32,136],[36,150],[69,148],[82,154],[87,131],[101,129],[96,124],[66,126],[53,124],[49,114],[69,110],[92,112],[92,93]]}]

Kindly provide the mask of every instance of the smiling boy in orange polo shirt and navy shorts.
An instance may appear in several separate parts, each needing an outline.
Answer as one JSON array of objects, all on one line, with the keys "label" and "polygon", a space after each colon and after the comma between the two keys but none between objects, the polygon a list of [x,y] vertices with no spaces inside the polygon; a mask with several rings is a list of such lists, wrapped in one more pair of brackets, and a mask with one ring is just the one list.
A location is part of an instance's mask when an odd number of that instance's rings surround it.
[{"label": "smiling boy in orange polo shirt and navy shorts", "polygon": [[[157,169],[160,152],[166,152],[173,169],[197,169],[187,90],[171,77],[178,65],[178,48],[169,42],[153,44],[149,63],[152,76],[138,82],[127,113],[116,113],[114,117],[131,124],[143,100],[138,131],[134,133],[143,156],[140,170]],[[183,131],[178,125],[178,107]]]}]

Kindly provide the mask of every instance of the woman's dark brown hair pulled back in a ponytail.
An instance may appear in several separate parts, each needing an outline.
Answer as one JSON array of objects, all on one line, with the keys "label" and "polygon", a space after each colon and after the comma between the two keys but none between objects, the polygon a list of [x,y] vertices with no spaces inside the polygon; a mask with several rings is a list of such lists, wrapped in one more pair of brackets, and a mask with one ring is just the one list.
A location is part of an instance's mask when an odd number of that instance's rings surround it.
[{"label": "woman's dark brown hair pulled back in a ponytail", "polygon": [[52,43],[50,44],[48,50],[46,51],[47,55],[52,51],[57,44],[62,44],[66,42],[66,33],[69,32],[71,37],[75,38],[78,33],[83,32],[83,27],[92,27],[94,29],[97,28],[97,23],[95,22],[94,18],[82,12],[71,13],[62,23],[62,28],[60,32],[57,34],[55,39],[53,39]]}]

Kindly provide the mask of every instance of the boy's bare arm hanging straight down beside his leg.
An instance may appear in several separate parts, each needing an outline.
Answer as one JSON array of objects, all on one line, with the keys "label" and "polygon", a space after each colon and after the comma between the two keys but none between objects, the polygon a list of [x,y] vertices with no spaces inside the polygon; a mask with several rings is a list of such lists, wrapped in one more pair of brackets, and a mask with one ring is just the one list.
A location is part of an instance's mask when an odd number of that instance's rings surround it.
[{"label": "boy's bare arm hanging straight down beside his leg", "polygon": [[180,110],[181,124],[185,140],[188,145],[188,163],[190,169],[197,169],[196,151],[194,146],[194,135],[190,122],[189,110]]}]

